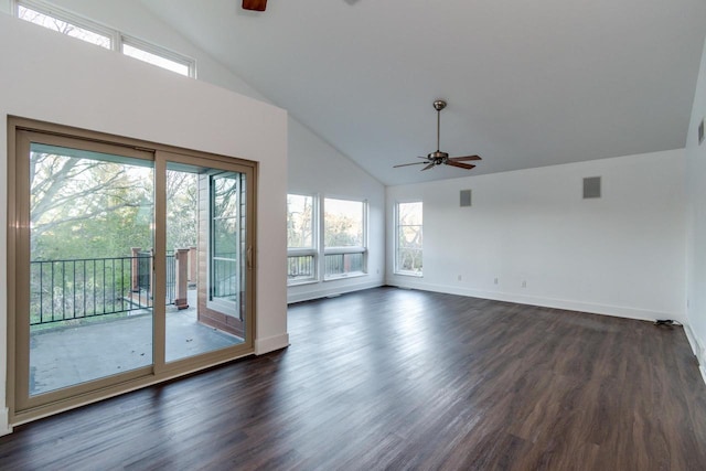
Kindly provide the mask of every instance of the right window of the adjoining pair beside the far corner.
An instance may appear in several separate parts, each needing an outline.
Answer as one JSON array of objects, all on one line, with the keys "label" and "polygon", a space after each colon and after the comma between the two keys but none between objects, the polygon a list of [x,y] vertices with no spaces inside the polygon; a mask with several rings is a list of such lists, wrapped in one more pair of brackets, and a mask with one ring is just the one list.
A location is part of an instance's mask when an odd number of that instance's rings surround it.
[{"label": "right window of the adjoining pair beside the far corner", "polygon": [[365,272],[365,213],[363,201],[323,202],[324,279]]}]

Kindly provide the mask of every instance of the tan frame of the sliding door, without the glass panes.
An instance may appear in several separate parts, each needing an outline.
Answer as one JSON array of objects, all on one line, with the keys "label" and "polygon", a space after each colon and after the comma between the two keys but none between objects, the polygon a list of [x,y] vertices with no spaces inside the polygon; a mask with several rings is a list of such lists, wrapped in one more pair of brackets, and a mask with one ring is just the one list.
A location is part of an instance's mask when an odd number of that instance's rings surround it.
[{"label": "tan frame of the sliding door, without the glass panes", "polygon": [[[245,173],[247,179],[246,247],[248,264],[243,274],[246,296],[246,335],[245,341],[211,353],[185,357],[165,363],[165,306],[153,303],[152,311],[152,364],[139,367],[119,376],[109,376],[78,384],[45,394],[29,395],[29,280],[30,280],[30,223],[29,223],[29,164],[30,137],[62,147],[115,153],[129,158],[153,162],[154,207],[153,244],[156,254],[165,249],[165,175],[167,162],[186,163]],[[257,162],[193,151],[137,139],[94,132],[25,118],[8,118],[8,378],[7,397],[10,422],[20,425],[40,417],[111,397],[151,384],[164,382],[207,368],[238,357],[254,354],[256,320],[256,214],[257,214]],[[164,257],[153,258],[153,271],[157,280],[165,280]],[[165,299],[165,283],[156,282],[153,298]],[[23,322],[24,321],[24,322]]]}]

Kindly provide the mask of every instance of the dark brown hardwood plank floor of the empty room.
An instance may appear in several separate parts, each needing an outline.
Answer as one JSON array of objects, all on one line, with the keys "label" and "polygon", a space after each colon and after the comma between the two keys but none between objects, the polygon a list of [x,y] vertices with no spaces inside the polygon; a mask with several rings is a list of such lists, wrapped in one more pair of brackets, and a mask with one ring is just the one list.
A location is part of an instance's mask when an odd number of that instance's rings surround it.
[{"label": "dark brown hardwood plank floor of the empty room", "polygon": [[3,470],[706,470],[681,328],[381,288],[291,346],[17,427]]}]

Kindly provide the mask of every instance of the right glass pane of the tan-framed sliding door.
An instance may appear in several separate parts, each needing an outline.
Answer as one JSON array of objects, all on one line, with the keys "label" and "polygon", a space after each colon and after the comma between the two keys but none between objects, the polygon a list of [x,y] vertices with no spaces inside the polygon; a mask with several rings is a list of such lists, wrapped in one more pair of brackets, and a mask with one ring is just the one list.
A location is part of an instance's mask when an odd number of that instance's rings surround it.
[{"label": "right glass pane of the tan-framed sliding door", "polygon": [[245,339],[238,296],[245,185],[239,173],[167,168],[165,360],[173,362]]}]

